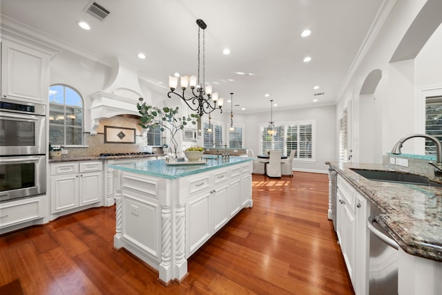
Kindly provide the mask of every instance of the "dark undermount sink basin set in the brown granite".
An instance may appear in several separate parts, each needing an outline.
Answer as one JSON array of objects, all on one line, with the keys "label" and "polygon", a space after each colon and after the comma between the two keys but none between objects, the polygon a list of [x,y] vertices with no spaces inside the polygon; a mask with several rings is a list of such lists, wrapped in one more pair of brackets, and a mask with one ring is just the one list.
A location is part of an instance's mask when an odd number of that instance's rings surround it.
[{"label": "dark undermount sink basin set in the brown granite", "polygon": [[442,187],[442,184],[437,182],[432,182],[428,178],[419,175],[401,173],[396,171],[376,171],[376,170],[364,170],[364,169],[351,169],[351,170],[369,180],[396,182],[403,184],[418,184],[430,187]]}]

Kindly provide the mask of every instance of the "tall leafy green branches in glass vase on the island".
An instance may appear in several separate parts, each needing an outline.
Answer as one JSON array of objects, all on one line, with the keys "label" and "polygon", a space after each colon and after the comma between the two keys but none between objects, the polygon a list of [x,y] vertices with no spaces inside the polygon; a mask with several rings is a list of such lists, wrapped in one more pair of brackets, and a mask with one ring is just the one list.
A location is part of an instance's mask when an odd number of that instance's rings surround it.
[{"label": "tall leafy green branches in glass vase on the island", "polygon": [[157,128],[160,127],[160,131],[169,130],[171,133],[171,142],[169,144],[169,149],[171,149],[172,160],[184,160],[180,159],[180,150],[177,138],[177,132],[184,129],[187,124],[197,124],[200,119],[199,115],[191,114],[187,117],[180,116],[178,114],[178,107],[169,108],[164,106],[164,108],[157,108],[156,106],[151,106],[143,102],[143,97],[138,99],[137,102],[138,113],[140,113],[140,123],[138,125],[142,126],[144,129],[149,127]]}]

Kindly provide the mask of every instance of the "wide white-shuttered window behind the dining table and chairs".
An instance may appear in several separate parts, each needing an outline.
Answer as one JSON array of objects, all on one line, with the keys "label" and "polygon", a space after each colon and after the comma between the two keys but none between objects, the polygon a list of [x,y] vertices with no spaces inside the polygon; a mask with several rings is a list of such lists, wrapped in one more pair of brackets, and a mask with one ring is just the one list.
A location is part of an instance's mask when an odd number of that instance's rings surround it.
[{"label": "wide white-shuttered window behind the dining table and chairs", "polygon": [[314,122],[290,122],[276,124],[276,134],[267,133],[267,125],[260,126],[260,153],[265,154],[271,149],[290,155],[295,151],[295,159],[314,160]]}]

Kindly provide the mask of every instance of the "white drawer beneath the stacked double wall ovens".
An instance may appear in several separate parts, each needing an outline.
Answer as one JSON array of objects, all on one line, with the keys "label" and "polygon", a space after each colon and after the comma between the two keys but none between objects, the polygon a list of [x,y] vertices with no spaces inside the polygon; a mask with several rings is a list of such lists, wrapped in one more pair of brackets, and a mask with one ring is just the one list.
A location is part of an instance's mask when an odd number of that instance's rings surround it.
[{"label": "white drawer beneath the stacked double wall ovens", "polygon": [[0,208],[0,229],[41,218],[40,200],[3,203]]}]

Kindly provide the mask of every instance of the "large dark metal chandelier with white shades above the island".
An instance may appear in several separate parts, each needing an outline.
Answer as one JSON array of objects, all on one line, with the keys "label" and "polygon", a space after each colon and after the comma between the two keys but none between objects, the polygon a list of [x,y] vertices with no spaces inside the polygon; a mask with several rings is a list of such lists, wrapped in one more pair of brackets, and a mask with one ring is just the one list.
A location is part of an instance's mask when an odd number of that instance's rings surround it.
[{"label": "large dark metal chandelier with white shades above the island", "polygon": [[[170,98],[171,94],[175,94],[178,97],[180,97],[184,102],[191,108],[193,111],[197,112],[200,117],[206,114],[210,114],[216,109],[219,109],[222,113],[222,104],[224,102],[224,99],[219,98],[218,99],[218,93],[212,94],[212,86],[211,85],[205,85],[204,82],[204,70],[205,70],[205,62],[204,62],[204,50],[205,50],[205,39],[204,39],[204,30],[207,28],[206,23],[202,19],[197,19],[196,23],[198,24],[198,77],[193,75],[191,77],[189,76],[182,76],[181,77],[181,89],[182,89],[182,95],[179,93],[175,93],[175,89],[178,85],[178,77],[169,76],[169,88],[171,88],[171,91],[167,93],[167,96]],[[200,30],[202,29],[202,81],[200,80]],[[184,97],[184,92],[186,91],[187,86],[191,86],[192,97],[186,98]],[[196,93],[195,93],[196,88]],[[204,97],[204,95],[207,95],[207,98]],[[211,100],[213,101],[213,104],[211,103]],[[217,106],[218,103],[218,106]]]}]

